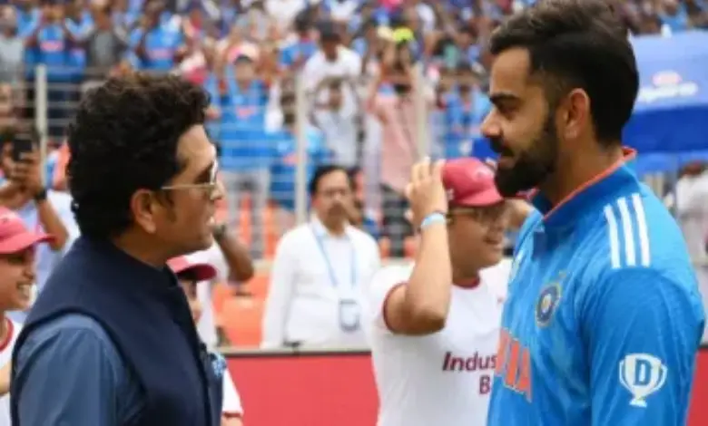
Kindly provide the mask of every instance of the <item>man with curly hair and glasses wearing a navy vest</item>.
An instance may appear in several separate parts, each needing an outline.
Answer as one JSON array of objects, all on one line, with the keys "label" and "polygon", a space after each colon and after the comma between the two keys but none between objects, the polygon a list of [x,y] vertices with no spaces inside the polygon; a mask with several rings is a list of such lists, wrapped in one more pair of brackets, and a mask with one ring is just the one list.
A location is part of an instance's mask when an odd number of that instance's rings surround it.
[{"label": "man with curly hair and glasses wearing a navy vest", "polygon": [[18,337],[13,425],[219,424],[223,369],[165,266],[212,243],[222,190],[208,105],[172,76],[112,79],[85,97],[67,167],[82,237]]}]

